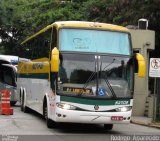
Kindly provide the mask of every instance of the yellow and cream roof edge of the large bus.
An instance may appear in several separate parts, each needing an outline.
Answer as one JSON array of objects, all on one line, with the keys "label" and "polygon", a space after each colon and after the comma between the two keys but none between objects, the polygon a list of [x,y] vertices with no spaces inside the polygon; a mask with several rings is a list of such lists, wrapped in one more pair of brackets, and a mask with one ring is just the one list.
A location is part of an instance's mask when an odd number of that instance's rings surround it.
[{"label": "yellow and cream roof edge of the large bus", "polygon": [[101,29],[101,30],[112,30],[112,31],[121,31],[121,32],[129,32],[126,27],[114,25],[114,24],[107,24],[107,23],[99,23],[99,22],[86,22],[86,21],[59,21],[55,22],[47,27],[43,28],[39,32],[33,34],[32,36],[28,37],[24,40],[21,44],[29,41],[30,39],[36,37],[37,35],[45,32],[46,30],[57,27],[57,28],[85,28],[85,29]]}]

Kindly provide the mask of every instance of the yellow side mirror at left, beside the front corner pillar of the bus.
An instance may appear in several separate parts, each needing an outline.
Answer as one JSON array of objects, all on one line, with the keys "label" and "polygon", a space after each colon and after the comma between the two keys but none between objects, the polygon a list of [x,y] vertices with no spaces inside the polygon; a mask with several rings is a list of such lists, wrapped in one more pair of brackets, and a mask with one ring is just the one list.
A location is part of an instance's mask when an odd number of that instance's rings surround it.
[{"label": "yellow side mirror at left, beside the front corner pillar of the bus", "polygon": [[51,53],[51,72],[59,71],[59,50],[55,47]]}]

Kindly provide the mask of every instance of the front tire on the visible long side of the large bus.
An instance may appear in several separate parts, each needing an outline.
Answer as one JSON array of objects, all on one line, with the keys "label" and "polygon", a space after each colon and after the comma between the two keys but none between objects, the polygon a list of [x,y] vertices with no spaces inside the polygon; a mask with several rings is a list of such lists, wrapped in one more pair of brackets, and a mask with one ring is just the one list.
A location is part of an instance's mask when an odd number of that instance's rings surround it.
[{"label": "front tire on the visible long side of the large bus", "polygon": [[46,99],[44,100],[44,103],[43,103],[43,116],[44,116],[44,119],[46,120],[46,124],[48,128],[56,127],[56,123],[48,118],[48,108],[47,108]]}]

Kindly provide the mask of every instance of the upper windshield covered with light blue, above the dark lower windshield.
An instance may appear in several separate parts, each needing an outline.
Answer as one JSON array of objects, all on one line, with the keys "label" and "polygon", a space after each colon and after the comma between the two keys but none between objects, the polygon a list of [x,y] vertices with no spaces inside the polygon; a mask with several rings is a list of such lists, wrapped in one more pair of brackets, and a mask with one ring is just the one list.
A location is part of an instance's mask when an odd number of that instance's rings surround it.
[{"label": "upper windshield covered with light blue, above the dark lower windshield", "polygon": [[125,32],[61,29],[60,50],[130,55],[129,34]]}]

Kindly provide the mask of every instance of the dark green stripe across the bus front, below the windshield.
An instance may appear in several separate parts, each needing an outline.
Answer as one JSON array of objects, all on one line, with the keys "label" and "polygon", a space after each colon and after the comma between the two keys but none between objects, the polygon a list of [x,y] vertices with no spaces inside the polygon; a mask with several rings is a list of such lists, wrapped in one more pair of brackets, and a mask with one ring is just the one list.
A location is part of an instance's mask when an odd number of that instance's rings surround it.
[{"label": "dark green stripe across the bus front, below the windshield", "polygon": [[80,97],[68,97],[68,96],[60,96],[61,102],[73,102],[79,104],[88,104],[88,105],[129,105],[129,100],[104,100],[104,99],[87,99]]}]

